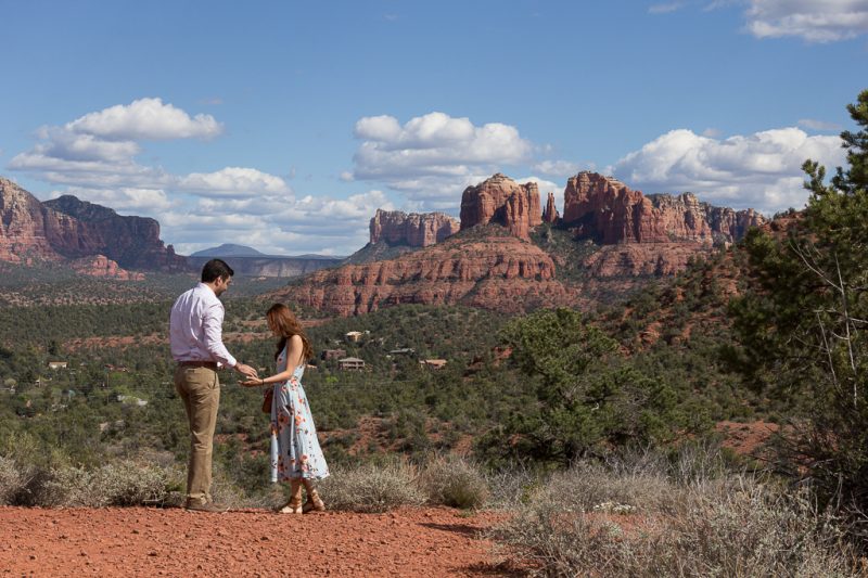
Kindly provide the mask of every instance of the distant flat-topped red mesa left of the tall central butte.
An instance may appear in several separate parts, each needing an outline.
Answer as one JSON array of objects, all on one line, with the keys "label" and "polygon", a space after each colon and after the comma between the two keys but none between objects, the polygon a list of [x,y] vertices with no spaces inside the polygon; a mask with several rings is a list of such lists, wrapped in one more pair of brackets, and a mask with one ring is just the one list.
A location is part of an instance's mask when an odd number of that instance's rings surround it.
[{"label": "distant flat-topped red mesa left of the tall central butte", "polygon": [[390,245],[426,247],[439,243],[460,230],[458,221],[444,213],[410,213],[376,209],[371,219],[371,244],[385,241]]}]

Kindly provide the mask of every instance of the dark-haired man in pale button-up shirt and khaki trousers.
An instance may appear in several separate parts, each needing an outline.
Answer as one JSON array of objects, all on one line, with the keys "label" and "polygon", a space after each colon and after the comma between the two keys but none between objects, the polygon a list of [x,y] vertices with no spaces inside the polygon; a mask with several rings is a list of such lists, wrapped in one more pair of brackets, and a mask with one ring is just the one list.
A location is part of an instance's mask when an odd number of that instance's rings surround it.
[{"label": "dark-haired man in pale button-up shirt and khaki trousers", "polygon": [[229,288],[234,271],[220,259],[202,268],[202,282],[178,297],[169,318],[175,388],[190,422],[190,461],[187,465],[187,510],[226,512],[210,497],[212,450],[220,381],[217,369],[232,368],[256,378],[256,370],[239,363],[224,346],[224,305],[218,297]]}]

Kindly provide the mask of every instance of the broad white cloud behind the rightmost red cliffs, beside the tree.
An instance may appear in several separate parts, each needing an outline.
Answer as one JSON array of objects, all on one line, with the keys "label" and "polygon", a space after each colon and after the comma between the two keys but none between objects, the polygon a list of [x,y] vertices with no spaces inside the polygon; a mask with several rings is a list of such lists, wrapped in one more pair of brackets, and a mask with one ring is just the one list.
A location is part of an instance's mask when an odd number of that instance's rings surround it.
[{"label": "broad white cloud behind the rightmost red cliffs, beside the tree", "polygon": [[841,139],[782,128],[725,140],[672,130],[618,160],[607,172],[646,193],[691,191],[702,200],[767,214],[802,207],[802,163],[828,167],[845,159]]}]

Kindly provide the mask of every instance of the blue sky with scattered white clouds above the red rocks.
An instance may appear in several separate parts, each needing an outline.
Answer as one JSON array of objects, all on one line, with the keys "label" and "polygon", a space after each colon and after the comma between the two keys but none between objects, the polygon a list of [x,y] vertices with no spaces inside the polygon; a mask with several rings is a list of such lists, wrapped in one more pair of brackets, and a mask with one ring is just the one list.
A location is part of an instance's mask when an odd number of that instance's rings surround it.
[{"label": "blue sky with scattered white clouds above the red rocks", "polygon": [[154,217],[182,254],[347,255],[578,170],[774,213],[843,164],[868,0],[0,0],[0,175]]}]

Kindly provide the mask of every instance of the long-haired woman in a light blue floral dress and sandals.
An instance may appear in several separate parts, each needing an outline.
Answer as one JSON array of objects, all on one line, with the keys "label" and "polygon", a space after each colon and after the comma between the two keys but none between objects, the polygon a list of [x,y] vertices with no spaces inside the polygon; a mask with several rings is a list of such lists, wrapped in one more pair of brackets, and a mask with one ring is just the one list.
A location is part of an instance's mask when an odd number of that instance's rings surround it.
[{"label": "long-haired woman in a light blue floral dress and sandals", "polygon": [[[317,439],[314,418],[302,386],[305,364],[314,355],[298,320],[283,304],[275,304],[266,313],[268,329],[279,337],[277,373],[264,380],[247,380],[248,387],[271,385],[271,480],[290,481],[290,501],[282,514],[322,512],[326,505],[314,481],[329,475],[329,466]],[[302,485],[307,503],[302,506]]]}]

